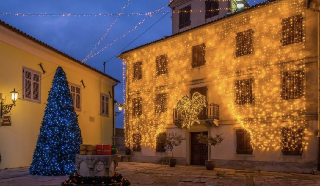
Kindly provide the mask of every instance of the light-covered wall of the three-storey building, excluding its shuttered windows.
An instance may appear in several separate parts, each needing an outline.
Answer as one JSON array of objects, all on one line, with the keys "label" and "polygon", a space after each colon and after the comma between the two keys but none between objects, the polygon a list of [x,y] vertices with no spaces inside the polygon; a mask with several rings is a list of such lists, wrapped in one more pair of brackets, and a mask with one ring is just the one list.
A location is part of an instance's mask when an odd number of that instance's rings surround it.
[{"label": "light-covered wall of the three-storey building, excluding its shuttered windows", "polygon": [[[282,46],[281,20],[300,13],[304,17],[305,41]],[[175,127],[172,115],[177,100],[184,94],[189,95],[190,88],[207,86],[208,103],[220,106],[220,126],[193,126],[190,131],[207,130],[212,135],[224,133],[226,140],[217,147],[220,154],[213,153],[212,158],[241,159],[234,155],[234,128],[244,127],[253,129],[252,139],[257,151],[255,158],[249,160],[315,163],[316,26],[317,14],[306,10],[302,1],[281,1],[122,54],[127,67],[128,142],[132,143],[131,133],[140,132],[141,144],[147,146],[142,148],[141,154],[157,156],[154,150],[156,134]],[[236,33],[250,28],[254,30],[254,52],[236,57]],[[206,45],[206,64],[192,68],[191,48],[202,43]],[[156,76],[155,59],[162,54],[168,56],[168,74]],[[142,80],[133,82],[133,63],[138,61],[142,61]],[[305,70],[306,94],[301,99],[282,100],[281,73],[300,68]],[[254,78],[254,104],[235,105],[235,81],[249,77]],[[164,88],[156,89],[160,86]],[[167,111],[159,116],[154,111],[156,93],[168,94]],[[132,99],[140,96],[143,114],[132,117]],[[304,152],[308,155],[296,159],[281,158],[281,127],[284,126],[306,128]],[[182,146],[188,151],[188,143]],[[270,156],[265,156],[266,152]],[[176,156],[190,158],[184,151]],[[242,159],[248,160],[248,157]]]}]

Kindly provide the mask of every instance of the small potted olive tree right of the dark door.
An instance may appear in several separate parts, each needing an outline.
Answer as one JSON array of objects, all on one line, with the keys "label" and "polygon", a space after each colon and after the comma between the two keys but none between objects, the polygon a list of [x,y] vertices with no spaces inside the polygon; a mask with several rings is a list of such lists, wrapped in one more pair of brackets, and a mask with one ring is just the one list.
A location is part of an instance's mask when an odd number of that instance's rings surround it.
[{"label": "small potted olive tree right of the dark door", "polygon": [[204,135],[203,133],[197,134],[196,139],[199,143],[205,144],[208,146],[208,160],[204,161],[204,166],[208,170],[213,170],[216,166],[216,162],[214,160],[210,159],[211,155],[211,146],[219,145],[223,138],[221,137],[221,134],[216,134],[216,136],[213,138],[211,135]]}]

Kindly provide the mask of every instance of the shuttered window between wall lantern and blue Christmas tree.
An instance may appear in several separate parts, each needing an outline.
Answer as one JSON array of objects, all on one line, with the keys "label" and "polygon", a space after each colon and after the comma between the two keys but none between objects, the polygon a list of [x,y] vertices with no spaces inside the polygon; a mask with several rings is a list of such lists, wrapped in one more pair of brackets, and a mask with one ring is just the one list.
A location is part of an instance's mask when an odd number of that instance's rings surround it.
[{"label": "shuttered window between wall lantern and blue Christmas tree", "polygon": [[41,101],[41,73],[23,68],[23,99],[35,102]]}]

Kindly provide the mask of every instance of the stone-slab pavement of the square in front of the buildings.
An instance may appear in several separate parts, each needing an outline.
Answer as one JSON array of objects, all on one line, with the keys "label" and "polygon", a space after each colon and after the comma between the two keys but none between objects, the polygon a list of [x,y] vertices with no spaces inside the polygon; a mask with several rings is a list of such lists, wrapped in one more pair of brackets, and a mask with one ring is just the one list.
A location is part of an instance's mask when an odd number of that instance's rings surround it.
[{"label": "stone-slab pavement of the square in front of the buildings", "polygon": [[[68,176],[35,176],[29,167],[0,170],[0,186],[60,186]],[[204,166],[119,162],[116,172],[131,186],[320,186],[320,175],[258,172]]]}]

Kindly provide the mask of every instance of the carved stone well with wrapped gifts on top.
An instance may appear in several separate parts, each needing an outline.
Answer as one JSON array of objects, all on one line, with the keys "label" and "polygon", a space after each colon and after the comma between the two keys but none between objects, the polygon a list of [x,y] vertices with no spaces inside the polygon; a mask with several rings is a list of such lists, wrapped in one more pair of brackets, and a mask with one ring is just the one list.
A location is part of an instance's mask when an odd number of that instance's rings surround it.
[{"label": "carved stone well with wrapped gifts on top", "polygon": [[114,176],[118,155],[76,154],[77,173],[82,176]]}]

